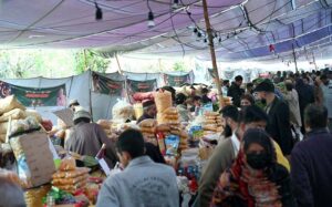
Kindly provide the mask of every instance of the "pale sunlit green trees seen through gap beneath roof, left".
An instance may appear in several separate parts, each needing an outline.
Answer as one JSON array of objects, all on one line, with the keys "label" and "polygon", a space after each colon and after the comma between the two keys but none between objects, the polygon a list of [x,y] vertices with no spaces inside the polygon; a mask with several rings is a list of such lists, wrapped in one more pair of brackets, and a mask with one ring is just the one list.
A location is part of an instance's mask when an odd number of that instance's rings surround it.
[{"label": "pale sunlit green trees seen through gap beneath roof, left", "polygon": [[0,77],[63,77],[87,69],[104,73],[110,62],[89,50],[1,50]]}]

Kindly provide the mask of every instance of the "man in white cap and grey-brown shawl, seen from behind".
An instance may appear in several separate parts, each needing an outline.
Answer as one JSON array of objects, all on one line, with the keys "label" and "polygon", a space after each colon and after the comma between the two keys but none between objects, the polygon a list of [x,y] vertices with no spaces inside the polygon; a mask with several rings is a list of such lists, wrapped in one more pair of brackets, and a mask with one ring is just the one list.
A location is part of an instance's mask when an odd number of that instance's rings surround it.
[{"label": "man in white cap and grey-brown shawl, seen from behind", "polygon": [[117,156],[113,142],[107,138],[103,128],[95,123],[91,123],[91,115],[83,107],[76,107],[73,121],[74,127],[64,148],[80,155],[95,157],[102,145],[106,144],[104,159],[110,167],[113,167],[117,162]]}]

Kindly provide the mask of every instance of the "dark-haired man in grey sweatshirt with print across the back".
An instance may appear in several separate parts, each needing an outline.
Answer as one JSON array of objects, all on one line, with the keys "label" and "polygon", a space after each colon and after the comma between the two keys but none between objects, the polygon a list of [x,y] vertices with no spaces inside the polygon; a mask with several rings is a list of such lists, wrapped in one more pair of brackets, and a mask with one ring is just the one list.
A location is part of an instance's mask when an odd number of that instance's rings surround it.
[{"label": "dark-haired man in grey sweatshirt with print across the back", "polygon": [[127,130],[116,144],[125,169],[111,175],[100,192],[97,207],[177,207],[179,193],[175,170],[145,155],[139,131]]}]

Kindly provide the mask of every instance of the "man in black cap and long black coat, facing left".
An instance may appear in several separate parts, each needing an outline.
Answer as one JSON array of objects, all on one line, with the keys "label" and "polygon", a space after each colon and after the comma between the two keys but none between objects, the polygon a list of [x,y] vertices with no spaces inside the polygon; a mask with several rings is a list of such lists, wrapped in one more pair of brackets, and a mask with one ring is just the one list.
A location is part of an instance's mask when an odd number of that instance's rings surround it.
[{"label": "man in black cap and long black coat, facing left", "polygon": [[290,155],[293,141],[289,106],[276,96],[274,85],[268,79],[258,84],[255,91],[262,102],[267,102],[264,108],[269,116],[267,132],[280,145],[283,155]]}]

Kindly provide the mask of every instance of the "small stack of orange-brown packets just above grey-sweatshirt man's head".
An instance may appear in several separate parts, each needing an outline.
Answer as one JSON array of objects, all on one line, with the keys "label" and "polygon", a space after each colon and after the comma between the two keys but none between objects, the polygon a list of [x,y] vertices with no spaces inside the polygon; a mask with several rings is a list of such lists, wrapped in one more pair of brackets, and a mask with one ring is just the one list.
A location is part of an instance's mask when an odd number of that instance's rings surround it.
[{"label": "small stack of orange-brown packets just above grey-sweatshirt man's head", "polygon": [[138,124],[138,126],[141,128],[145,142],[153,143],[154,145],[157,146],[158,142],[155,135],[156,126],[157,126],[156,120],[153,118],[144,120]]}]

